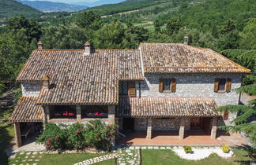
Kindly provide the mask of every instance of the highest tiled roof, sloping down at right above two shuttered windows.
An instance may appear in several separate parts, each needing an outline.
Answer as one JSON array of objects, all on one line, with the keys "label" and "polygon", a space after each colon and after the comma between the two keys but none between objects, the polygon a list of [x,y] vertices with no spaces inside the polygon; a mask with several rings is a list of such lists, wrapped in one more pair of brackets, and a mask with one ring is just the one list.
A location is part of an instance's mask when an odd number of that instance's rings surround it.
[{"label": "highest tiled roof, sloping down at right above two shuttered windows", "polygon": [[181,43],[141,43],[145,73],[249,73],[212,49]]}]

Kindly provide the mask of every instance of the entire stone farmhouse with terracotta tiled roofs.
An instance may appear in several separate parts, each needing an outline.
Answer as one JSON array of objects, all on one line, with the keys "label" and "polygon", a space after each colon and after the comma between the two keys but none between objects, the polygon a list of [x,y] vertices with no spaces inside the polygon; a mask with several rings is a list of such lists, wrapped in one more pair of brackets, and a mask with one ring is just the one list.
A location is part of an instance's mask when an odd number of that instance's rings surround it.
[{"label": "entire stone farmhouse with terracotta tiled roofs", "polygon": [[186,43],[141,43],[138,49],[39,49],[17,82],[22,97],[10,117],[17,145],[38,123],[86,123],[101,119],[119,132],[203,130],[216,138],[218,125],[236,114],[243,75],[250,70],[212,49]]}]

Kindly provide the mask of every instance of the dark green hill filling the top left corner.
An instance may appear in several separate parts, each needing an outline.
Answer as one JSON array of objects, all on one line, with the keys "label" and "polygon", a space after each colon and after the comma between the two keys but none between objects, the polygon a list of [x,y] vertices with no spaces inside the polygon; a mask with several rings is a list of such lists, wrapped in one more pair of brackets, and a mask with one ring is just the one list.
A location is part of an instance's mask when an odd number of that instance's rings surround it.
[{"label": "dark green hill filling the top left corner", "polygon": [[36,17],[40,16],[40,13],[39,10],[14,0],[0,0],[0,19],[6,19],[10,16],[21,14],[24,16]]}]

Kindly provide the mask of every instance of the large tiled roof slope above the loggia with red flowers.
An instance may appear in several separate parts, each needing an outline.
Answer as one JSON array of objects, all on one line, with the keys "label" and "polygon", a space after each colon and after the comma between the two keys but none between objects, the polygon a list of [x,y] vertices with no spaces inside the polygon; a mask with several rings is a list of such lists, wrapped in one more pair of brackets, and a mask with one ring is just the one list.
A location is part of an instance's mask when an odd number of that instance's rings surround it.
[{"label": "large tiled roof slope above the loggia with red flowers", "polygon": [[83,50],[36,51],[19,79],[26,74],[36,80],[49,75],[53,87],[41,91],[37,101],[40,105],[117,104],[119,73],[115,51],[96,50],[90,56],[82,53]]}]

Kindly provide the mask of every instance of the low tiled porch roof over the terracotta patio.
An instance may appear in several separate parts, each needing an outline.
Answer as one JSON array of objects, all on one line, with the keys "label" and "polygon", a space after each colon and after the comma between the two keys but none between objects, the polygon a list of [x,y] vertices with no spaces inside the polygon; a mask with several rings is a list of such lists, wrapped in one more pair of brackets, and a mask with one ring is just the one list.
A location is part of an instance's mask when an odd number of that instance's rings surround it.
[{"label": "low tiled porch roof over the terracotta patio", "polygon": [[130,97],[119,98],[116,116],[219,116],[213,112],[215,108],[215,101],[209,97]]}]

